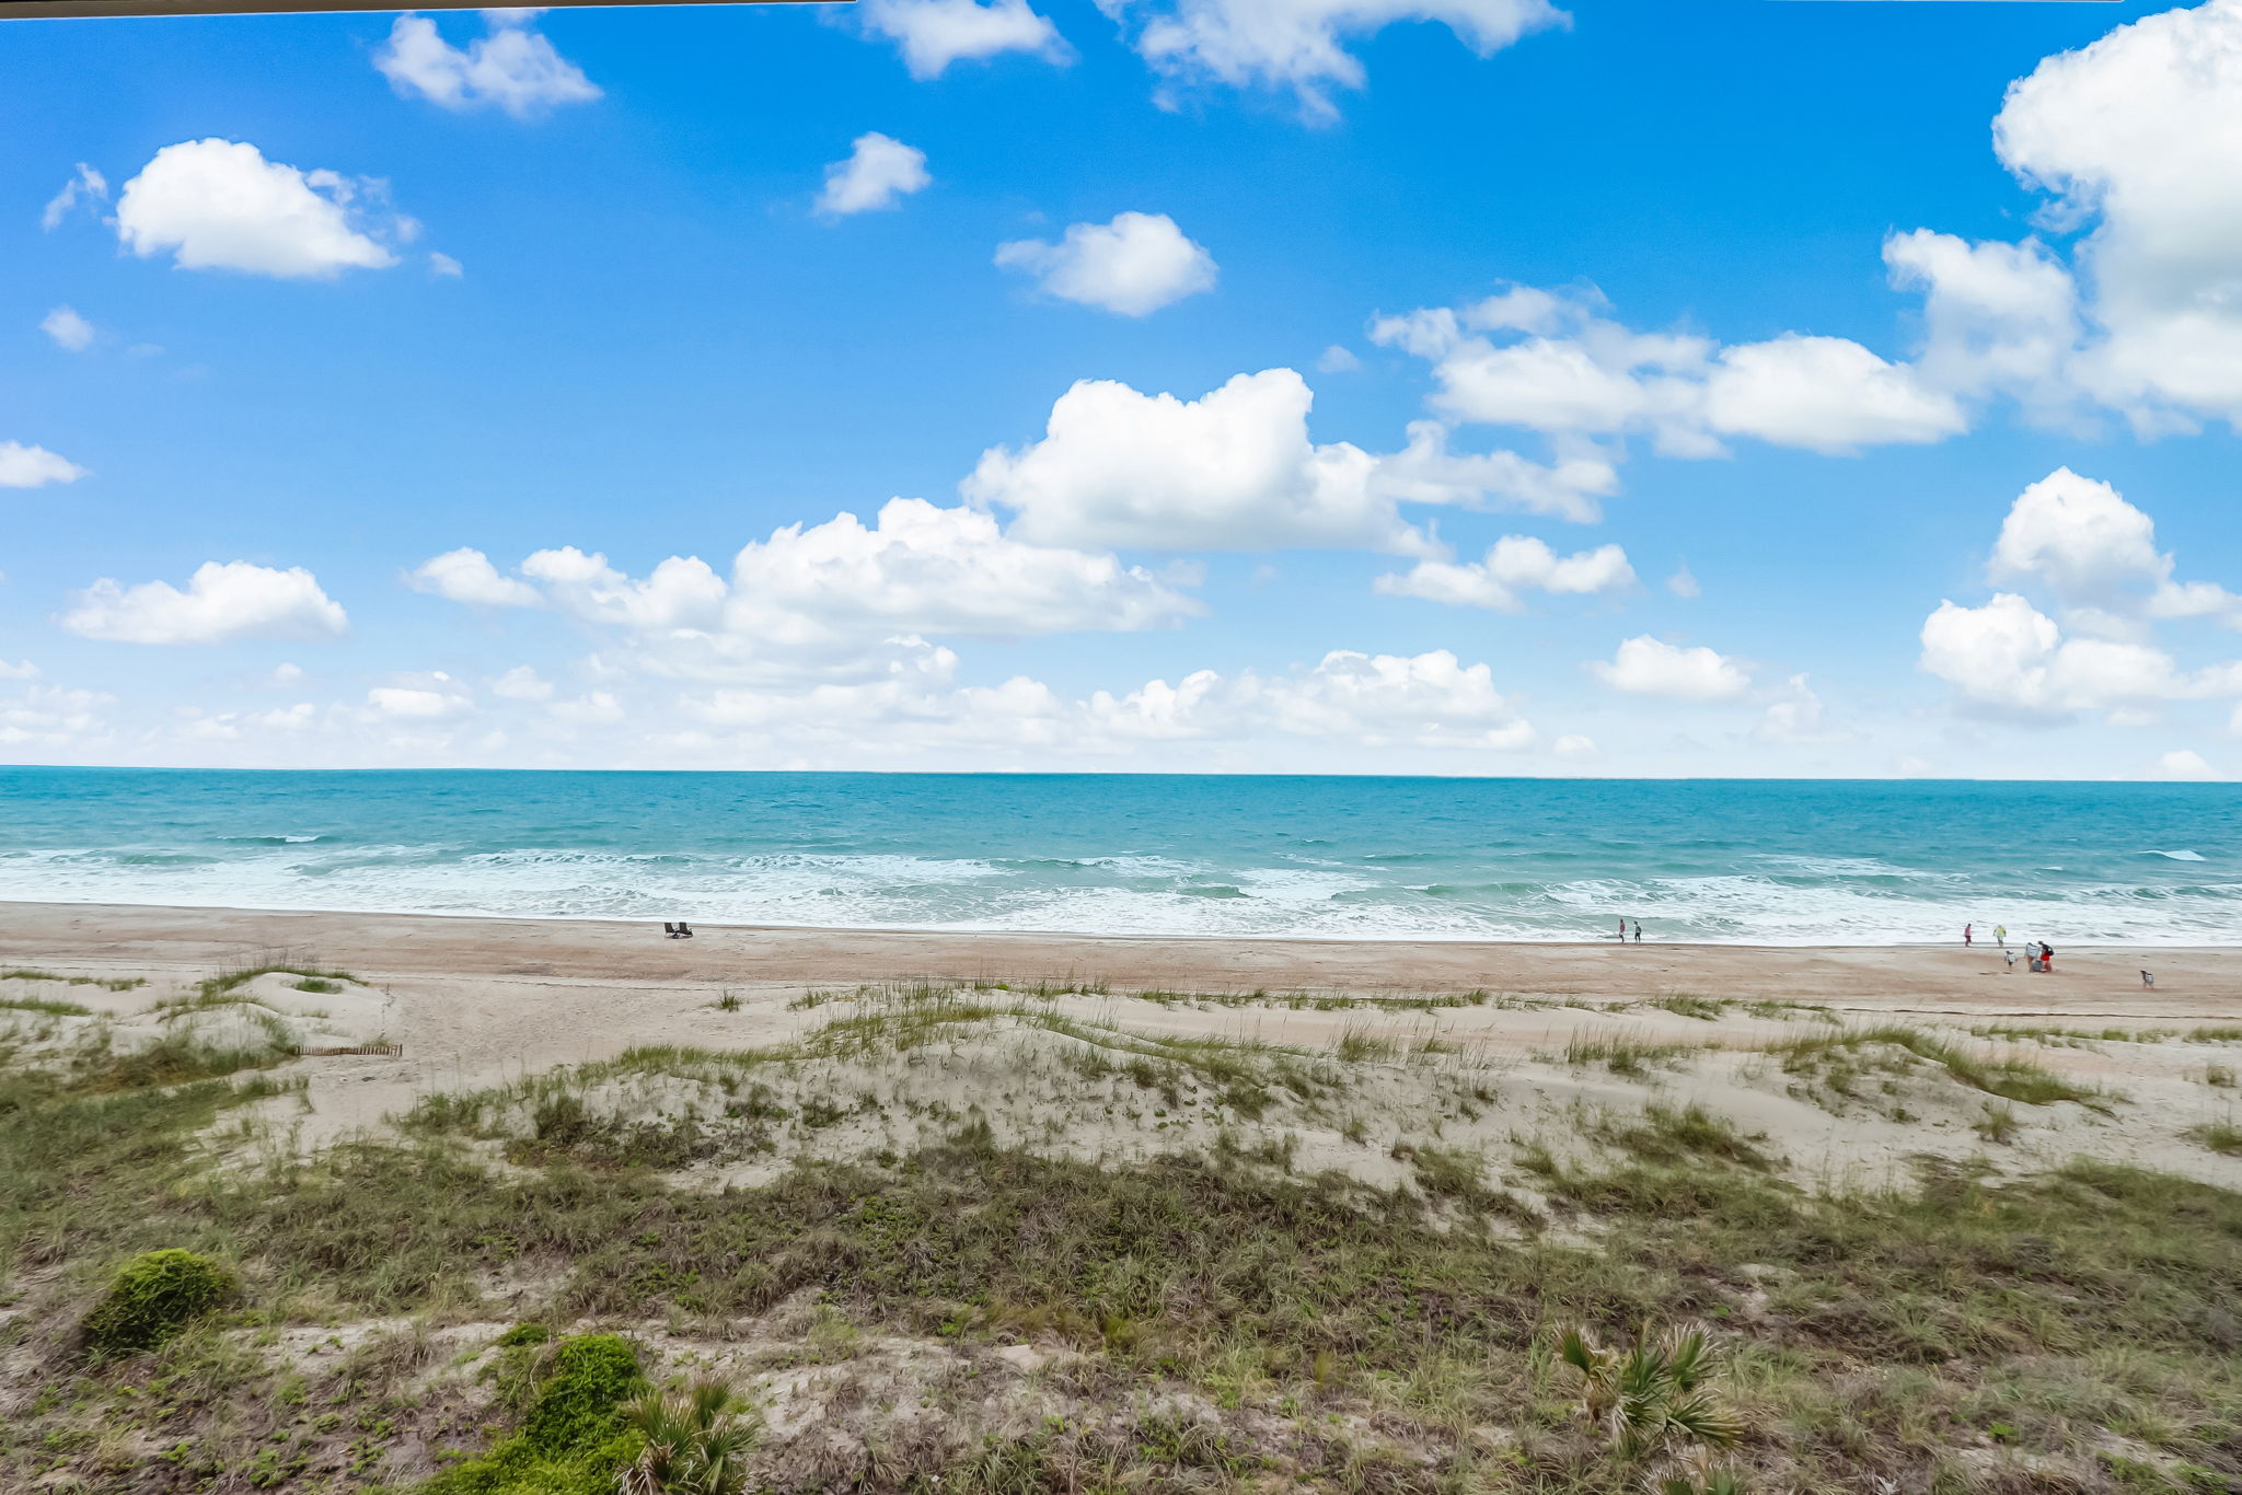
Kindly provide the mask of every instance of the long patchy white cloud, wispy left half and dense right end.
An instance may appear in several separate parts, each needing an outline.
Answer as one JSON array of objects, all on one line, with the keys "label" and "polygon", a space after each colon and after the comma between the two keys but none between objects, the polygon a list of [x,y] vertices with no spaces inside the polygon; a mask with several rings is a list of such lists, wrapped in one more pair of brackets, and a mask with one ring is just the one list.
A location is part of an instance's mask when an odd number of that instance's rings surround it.
[{"label": "long patchy white cloud, wispy left half and dense right end", "polygon": [[1859,343],[1785,334],[1720,347],[1641,334],[1601,316],[1594,294],[1516,287],[1381,316],[1370,336],[1433,363],[1433,408],[1451,419],[1576,439],[1648,435],[1675,457],[1722,455],[1722,437],[1847,453],[1966,428],[1951,394]]}]

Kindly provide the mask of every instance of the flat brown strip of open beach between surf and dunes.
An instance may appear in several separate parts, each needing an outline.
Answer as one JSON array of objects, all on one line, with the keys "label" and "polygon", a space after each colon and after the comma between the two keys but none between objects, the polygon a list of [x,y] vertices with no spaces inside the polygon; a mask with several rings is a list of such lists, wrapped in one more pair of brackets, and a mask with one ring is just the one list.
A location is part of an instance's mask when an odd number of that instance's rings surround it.
[{"label": "flat brown strip of open beach between surf and dunes", "polygon": [[[538,975],[583,982],[877,982],[1074,975],[1157,991],[1495,991],[1641,1000],[1942,997],[2031,1011],[2211,1000],[2242,1013],[2233,946],[2058,946],[2056,971],[2009,968],[1991,944],[1747,946],[1702,941],[1303,939],[700,923],[554,914],[390,914],[159,903],[0,901],[0,966],[224,966],[249,950],[316,950],[361,975]],[[2157,971],[2143,988],[2139,968]],[[2013,977],[2013,982],[2011,982]],[[1897,1011],[1897,1009],[1894,1009]],[[2222,1009],[2213,1015],[2226,1015]]]}]

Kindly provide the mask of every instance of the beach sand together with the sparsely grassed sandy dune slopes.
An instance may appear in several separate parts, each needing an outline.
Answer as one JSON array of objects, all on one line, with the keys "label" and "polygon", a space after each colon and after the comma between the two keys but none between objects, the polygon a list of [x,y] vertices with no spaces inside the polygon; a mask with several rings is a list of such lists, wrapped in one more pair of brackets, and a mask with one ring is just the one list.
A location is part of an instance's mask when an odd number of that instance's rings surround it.
[{"label": "beach sand together with the sparsely grassed sandy dune slopes", "polygon": [[[1383,1145],[1392,1139],[1500,1150],[1518,1136],[1578,1139],[1596,1116],[1704,1105],[1767,1139],[1807,1179],[1991,1150],[2016,1168],[2096,1154],[2242,1186],[2242,1159],[2190,1141],[2235,1112],[2235,1051],[2215,1040],[2242,1024],[2231,950],[2065,948],[2056,973],[2029,975],[1986,946],[1318,944],[717,926],[673,941],[650,923],[0,906],[0,971],[146,982],[105,991],[18,977],[0,1000],[47,995],[94,1009],[126,1044],[177,1022],[164,1004],[197,982],[267,964],[352,977],[332,995],[305,995],[289,975],[231,993],[267,1027],[285,1024],[305,1047],[401,1047],[397,1056],[294,1060],[289,1071],[307,1085],[291,1123],[300,1145],[379,1130],[430,1094],[520,1087],[659,1044],[800,1044],[834,1020],[948,1000],[975,1020],[946,1027],[933,1060],[912,1040],[908,1056],[859,1047],[771,1069],[782,1087],[870,1096],[861,1109],[872,1118],[762,1148],[713,1177],[756,1181],[789,1157],[908,1145],[966,1112],[986,1114],[1009,1141],[1083,1157],[1211,1141],[1242,1118],[1206,1103],[1188,1116],[1117,1107],[1108,1092],[1090,1103],[1065,1069],[1085,1042],[1128,1058],[1213,1040],[1363,1060],[1347,1067],[1345,1103],[1280,1105],[1247,1127],[1291,1136],[1307,1166],[1379,1181],[1406,1174]],[[2141,986],[2141,966],[2157,973],[2155,991]],[[242,1011],[204,1011],[195,1022],[224,1038]],[[1854,1042],[1890,1024],[1921,1036],[1921,1053]],[[2011,1105],[2004,1089],[2016,1087],[1986,1089],[1926,1060],[1937,1044],[1971,1062],[2054,1074],[2099,1101]],[[641,1065],[628,1083],[605,1076],[587,1096],[617,1114],[673,1116],[708,1105],[711,1083],[686,1062],[652,1076]],[[1457,1087],[1493,1096],[1466,1107],[1484,1118],[1457,1118]],[[527,1092],[518,1098],[527,1105]],[[1381,1145],[1350,1139],[1356,1127],[1377,1130]],[[2000,1139],[1993,1148],[1991,1136]]]}]

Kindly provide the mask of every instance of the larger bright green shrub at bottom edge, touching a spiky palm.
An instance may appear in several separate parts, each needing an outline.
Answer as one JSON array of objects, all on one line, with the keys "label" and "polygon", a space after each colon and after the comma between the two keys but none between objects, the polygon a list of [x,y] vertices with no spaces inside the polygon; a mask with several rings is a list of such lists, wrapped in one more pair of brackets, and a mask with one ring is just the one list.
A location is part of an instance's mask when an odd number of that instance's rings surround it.
[{"label": "larger bright green shrub at bottom edge, touching a spiky palm", "polygon": [[[518,1340],[509,1354],[536,1354],[534,1340]],[[617,1473],[643,1446],[628,1405],[641,1392],[639,1354],[621,1336],[560,1340],[543,1365],[522,1430],[444,1470],[424,1495],[610,1495]]]}]

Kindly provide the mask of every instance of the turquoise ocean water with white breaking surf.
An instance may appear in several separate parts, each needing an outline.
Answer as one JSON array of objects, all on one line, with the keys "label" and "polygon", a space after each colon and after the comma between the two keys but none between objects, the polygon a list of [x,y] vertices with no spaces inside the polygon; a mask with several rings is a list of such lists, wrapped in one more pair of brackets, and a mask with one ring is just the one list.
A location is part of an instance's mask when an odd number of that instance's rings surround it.
[{"label": "turquoise ocean water with white breaking surf", "polygon": [[[1323,939],[2242,944],[2242,784],[0,769],[0,899]],[[4,919],[0,910],[0,919]]]}]

